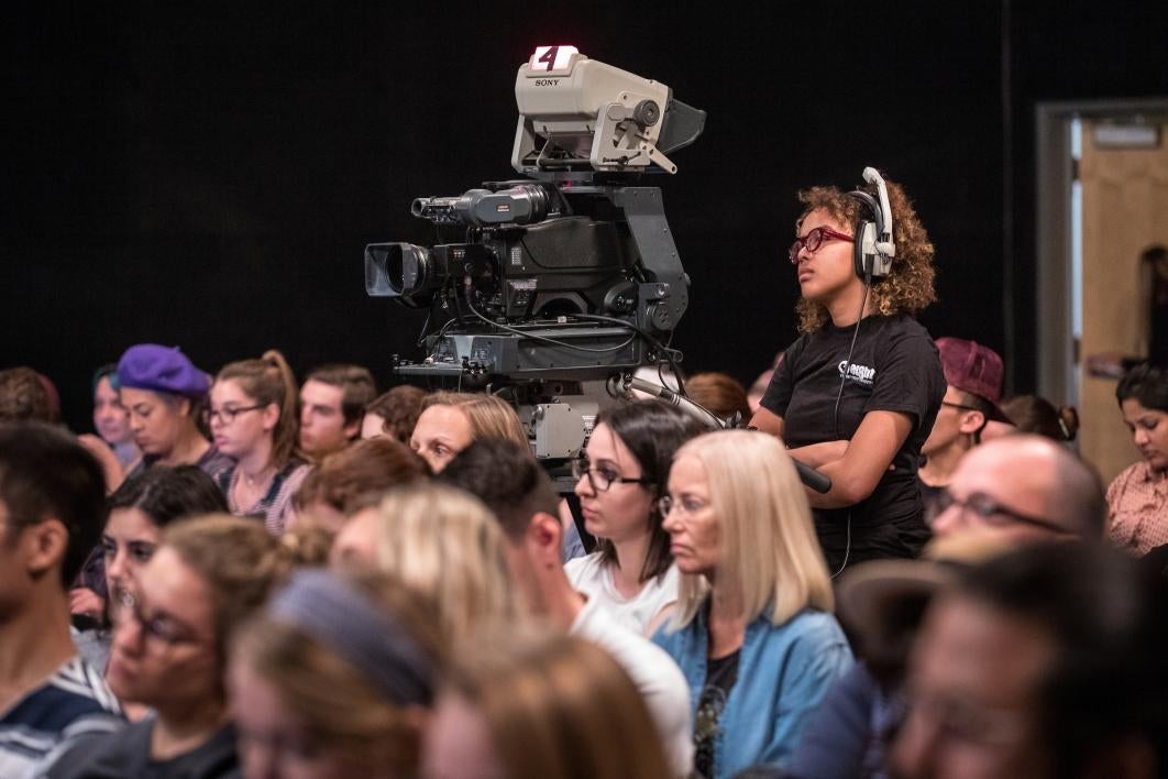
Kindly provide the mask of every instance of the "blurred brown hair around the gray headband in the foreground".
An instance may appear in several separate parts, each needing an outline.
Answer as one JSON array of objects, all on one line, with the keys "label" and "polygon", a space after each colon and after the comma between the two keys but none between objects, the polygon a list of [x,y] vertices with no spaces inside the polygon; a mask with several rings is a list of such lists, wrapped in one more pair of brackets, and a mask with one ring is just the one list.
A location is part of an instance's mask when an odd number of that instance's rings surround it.
[{"label": "blurred brown hair around the gray headband in the foreground", "polygon": [[[426,656],[442,659],[442,638],[425,597],[383,572],[354,572],[348,580],[391,613]],[[239,631],[231,658],[276,688],[306,743],[335,752],[361,775],[385,770],[412,775],[417,770],[416,717],[333,647],[264,614]]]}]

